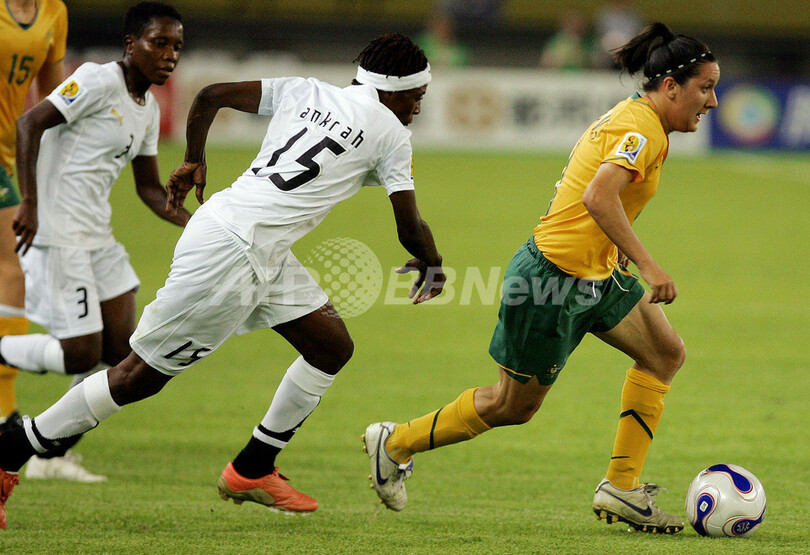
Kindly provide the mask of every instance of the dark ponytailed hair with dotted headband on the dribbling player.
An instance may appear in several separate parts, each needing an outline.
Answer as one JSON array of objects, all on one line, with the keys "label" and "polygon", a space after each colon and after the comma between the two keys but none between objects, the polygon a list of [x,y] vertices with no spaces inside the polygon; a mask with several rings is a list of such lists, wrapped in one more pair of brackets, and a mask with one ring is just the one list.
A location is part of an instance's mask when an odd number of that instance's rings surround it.
[{"label": "dark ponytailed hair with dotted headband on the dribbling player", "polygon": [[644,75],[645,91],[657,89],[667,77],[681,85],[698,74],[701,64],[717,59],[709,47],[686,35],[676,35],[663,23],[652,23],[616,50],[613,59],[630,75]]}]

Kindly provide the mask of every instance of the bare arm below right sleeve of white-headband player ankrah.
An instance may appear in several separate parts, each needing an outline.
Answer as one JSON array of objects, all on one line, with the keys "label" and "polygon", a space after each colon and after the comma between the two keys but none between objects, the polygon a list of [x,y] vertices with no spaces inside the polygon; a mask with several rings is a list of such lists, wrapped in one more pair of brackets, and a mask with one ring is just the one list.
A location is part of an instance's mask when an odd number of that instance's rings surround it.
[{"label": "bare arm below right sleeve of white-headband player ankrah", "polygon": [[444,288],[447,278],[442,271],[442,257],[436,249],[430,227],[419,215],[415,193],[399,191],[388,198],[394,208],[399,242],[414,256],[397,272],[418,272],[408,298],[413,299],[414,304],[419,304],[432,299]]}]

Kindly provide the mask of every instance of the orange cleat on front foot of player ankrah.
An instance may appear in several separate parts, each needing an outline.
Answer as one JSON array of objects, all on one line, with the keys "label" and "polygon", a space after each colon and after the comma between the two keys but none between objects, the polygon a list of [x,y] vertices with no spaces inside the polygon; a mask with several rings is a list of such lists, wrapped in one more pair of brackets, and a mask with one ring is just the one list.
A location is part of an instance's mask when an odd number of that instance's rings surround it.
[{"label": "orange cleat on front foot of player ankrah", "polygon": [[225,501],[233,499],[237,505],[253,501],[266,505],[272,511],[308,514],[318,508],[318,502],[309,495],[293,489],[288,478],[278,473],[278,467],[272,474],[261,478],[245,478],[228,463],[219,477],[217,489]]}]

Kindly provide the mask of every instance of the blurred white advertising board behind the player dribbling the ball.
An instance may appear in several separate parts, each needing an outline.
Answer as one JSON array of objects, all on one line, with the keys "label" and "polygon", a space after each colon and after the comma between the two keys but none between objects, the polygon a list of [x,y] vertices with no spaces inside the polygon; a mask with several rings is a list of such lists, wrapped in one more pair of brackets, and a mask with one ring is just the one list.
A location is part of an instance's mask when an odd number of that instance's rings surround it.
[{"label": "blurred white advertising board behind the player dribbling the ball", "polygon": [[[415,145],[567,153],[596,118],[636,90],[631,77],[610,71],[433,73],[414,120]],[[708,129],[673,133],[670,142],[673,154],[706,152]]]}]

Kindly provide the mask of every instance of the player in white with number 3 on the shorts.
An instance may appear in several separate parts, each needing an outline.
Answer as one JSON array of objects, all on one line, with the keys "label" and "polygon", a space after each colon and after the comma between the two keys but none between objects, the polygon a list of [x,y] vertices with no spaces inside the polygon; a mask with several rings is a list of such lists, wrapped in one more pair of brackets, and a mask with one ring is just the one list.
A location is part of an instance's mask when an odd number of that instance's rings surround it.
[{"label": "player in white with number 3 on the shorts", "polygon": [[[109,194],[128,162],[138,195],[158,216],[185,225],[187,211],[166,206],[158,172],[160,109],[149,92],[171,75],[183,25],[165,4],[133,6],[124,22],[124,58],[86,63],[18,120],[22,201],[14,219],[26,278],[26,312],[49,334],[0,338],[0,363],[75,375],[129,354],[138,277],[110,227]],[[75,438],[75,439],[78,439]],[[65,455],[72,445],[32,459],[26,474],[103,480]]]}]

